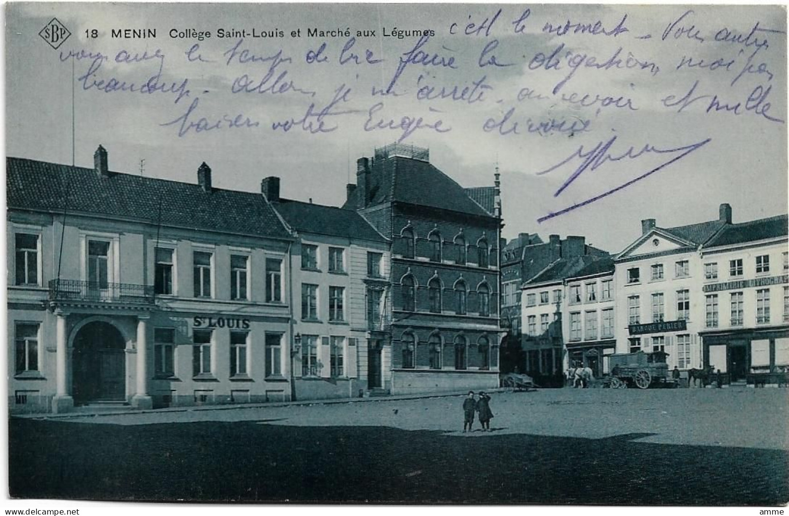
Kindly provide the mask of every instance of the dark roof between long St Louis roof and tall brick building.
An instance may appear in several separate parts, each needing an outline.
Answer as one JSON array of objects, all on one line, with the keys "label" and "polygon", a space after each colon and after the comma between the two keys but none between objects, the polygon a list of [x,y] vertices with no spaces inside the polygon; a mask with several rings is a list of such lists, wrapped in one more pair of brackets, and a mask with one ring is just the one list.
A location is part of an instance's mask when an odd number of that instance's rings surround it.
[{"label": "dark roof between long St Louis roof and tall brick building", "polygon": [[282,219],[301,233],[387,241],[356,211],[287,199],[280,199],[274,208]]}]

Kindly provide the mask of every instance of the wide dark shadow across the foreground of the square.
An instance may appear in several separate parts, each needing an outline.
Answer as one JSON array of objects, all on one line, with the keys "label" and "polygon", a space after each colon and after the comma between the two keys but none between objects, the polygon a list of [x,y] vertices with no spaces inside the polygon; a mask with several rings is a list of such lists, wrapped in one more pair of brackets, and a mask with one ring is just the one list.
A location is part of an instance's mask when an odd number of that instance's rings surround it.
[{"label": "wide dark shadow across the foreground of the square", "polygon": [[[480,432],[481,433],[481,432]],[[9,421],[13,497],[299,503],[757,505],[786,451],[261,421]]]}]

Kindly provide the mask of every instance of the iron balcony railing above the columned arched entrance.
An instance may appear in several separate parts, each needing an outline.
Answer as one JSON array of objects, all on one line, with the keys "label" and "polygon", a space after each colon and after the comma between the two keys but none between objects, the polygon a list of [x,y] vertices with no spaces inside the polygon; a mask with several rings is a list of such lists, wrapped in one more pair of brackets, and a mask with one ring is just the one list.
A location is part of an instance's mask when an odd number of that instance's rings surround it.
[{"label": "iron balcony railing above the columned arched entrance", "polygon": [[49,282],[50,301],[98,301],[152,304],[153,286],[132,283],[85,282],[53,279]]}]

